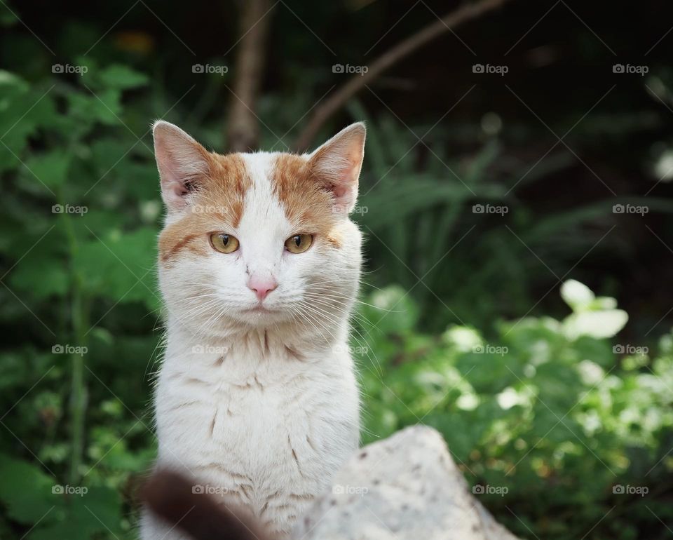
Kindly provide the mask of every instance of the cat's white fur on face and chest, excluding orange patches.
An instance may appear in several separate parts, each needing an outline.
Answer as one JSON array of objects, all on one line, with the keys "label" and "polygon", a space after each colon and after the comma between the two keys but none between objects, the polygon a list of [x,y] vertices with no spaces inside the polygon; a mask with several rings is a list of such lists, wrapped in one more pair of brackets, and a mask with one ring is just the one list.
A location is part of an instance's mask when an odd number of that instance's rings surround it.
[{"label": "cat's white fur on face and chest, excluding orange patches", "polygon": [[[247,506],[289,534],[358,447],[348,318],[361,238],[344,214],[341,248],[316,238],[304,253],[284,250],[285,239],[304,231],[271,189],[275,156],[244,154],[253,182],[238,228],[228,231],[237,252],[185,251],[161,266],[168,344],[155,409],[158,466],[188,471],[225,504]],[[247,311],[257,304],[246,286],[252,273],[278,282],[264,302],[271,313]],[[180,538],[144,516],[142,539]]]}]

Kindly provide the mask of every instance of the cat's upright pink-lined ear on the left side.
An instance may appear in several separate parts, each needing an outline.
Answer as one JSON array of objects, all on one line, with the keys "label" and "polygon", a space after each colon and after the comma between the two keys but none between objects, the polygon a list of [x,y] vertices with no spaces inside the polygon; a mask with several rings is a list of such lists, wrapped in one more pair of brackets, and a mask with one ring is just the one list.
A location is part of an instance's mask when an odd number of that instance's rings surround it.
[{"label": "cat's upright pink-lined ear on the left side", "polygon": [[183,210],[189,194],[208,178],[208,151],[189,134],[163,120],[154,123],[152,133],[163,201],[169,212]]}]

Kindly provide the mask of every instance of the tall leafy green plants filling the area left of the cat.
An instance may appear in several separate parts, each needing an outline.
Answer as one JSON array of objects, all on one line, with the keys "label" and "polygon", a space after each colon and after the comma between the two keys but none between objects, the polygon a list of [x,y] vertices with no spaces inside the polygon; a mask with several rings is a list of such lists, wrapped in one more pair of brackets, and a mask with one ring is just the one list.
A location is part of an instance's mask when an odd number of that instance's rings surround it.
[{"label": "tall leafy green plants filling the area left of the cat", "polygon": [[148,78],[86,65],[73,85],[0,72],[3,538],[135,537],[128,490],[154,459],[161,206],[122,105]]}]

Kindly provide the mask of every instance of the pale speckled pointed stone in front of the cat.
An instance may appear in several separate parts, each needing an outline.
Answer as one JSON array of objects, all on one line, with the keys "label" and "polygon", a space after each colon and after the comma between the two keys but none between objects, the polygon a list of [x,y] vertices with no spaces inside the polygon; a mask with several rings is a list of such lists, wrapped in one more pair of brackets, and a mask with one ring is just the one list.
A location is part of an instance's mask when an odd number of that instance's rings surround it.
[{"label": "pale speckled pointed stone in front of the cat", "polygon": [[444,439],[413,426],[366,446],[300,523],[303,540],[517,540],[475,499]]}]

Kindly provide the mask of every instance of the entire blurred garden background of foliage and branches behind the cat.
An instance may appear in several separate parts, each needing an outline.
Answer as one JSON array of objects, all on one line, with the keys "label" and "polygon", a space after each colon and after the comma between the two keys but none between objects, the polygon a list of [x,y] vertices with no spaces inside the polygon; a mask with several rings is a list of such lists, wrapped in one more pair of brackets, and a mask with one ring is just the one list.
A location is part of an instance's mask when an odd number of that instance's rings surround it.
[{"label": "entire blurred garden background of foliage and branches behind the cat", "polygon": [[366,121],[363,443],[437,428],[523,538],[673,535],[669,2],[0,4],[1,538],[135,537],[158,118]]}]

